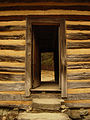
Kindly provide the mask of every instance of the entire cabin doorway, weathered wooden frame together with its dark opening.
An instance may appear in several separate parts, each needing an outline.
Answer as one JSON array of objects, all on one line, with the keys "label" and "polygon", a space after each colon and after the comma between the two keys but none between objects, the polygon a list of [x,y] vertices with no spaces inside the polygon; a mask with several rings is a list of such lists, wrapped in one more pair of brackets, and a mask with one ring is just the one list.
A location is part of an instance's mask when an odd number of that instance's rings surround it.
[{"label": "entire cabin doorway, weathered wooden frame together with its dark opening", "polygon": [[[46,55],[48,54],[48,55]],[[53,64],[44,67],[42,56],[53,58]],[[51,56],[51,57],[50,57]],[[45,57],[44,57],[45,58]],[[45,64],[48,63],[45,58]],[[25,93],[37,89],[44,91],[46,88],[51,92],[61,91],[62,97],[67,97],[66,79],[66,39],[65,20],[56,16],[28,16],[26,29],[26,58],[25,58]],[[42,67],[43,65],[43,67]],[[50,65],[50,66],[49,66]],[[47,67],[46,67],[47,66]],[[52,66],[52,67],[51,67]],[[41,78],[42,70],[49,68],[53,71],[53,81]],[[49,72],[48,72],[49,73]],[[41,89],[42,87],[45,89]],[[56,86],[56,87],[55,87]]]}]

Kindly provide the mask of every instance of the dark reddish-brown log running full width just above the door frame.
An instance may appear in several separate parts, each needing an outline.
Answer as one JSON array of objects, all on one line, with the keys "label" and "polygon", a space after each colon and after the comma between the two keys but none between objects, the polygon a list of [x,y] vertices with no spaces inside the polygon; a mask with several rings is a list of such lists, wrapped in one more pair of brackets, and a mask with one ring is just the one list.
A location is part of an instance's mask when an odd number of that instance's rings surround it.
[{"label": "dark reddish-brown log running full width just above the door frame", "polygon": [[[40,16],[40,15],[39,15]],[[36,17],[35,15],[33,17]],[[42,17],[42,16],[41,16]],[[43,17],[48,17],[48,15],[45,15]],[[49,16],[51,18],[55,18],[55,16]],[[87,17],[87,19],[86,19]],[[13,15],[13,16],[0,16],[0,21],[1,22],[12,22],[12,21],[23,21],[27,18],[27,15]],[[69,21],[90,21],[90,16],[89,15],[57,15],[57,18],[64,18]],[[18,22],[17,22],[18,24]]]}]

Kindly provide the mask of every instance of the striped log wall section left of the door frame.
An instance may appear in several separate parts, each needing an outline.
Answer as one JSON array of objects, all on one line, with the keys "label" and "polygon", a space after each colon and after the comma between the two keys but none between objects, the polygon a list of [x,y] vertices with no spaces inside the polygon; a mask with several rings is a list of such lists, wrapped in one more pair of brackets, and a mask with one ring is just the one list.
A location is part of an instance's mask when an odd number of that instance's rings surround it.
[{"label": "striped log wall section left of the door frame", "polygon": [[0,105],[30,103],[25,99],[25,38],[25,20],[0,22]]}]

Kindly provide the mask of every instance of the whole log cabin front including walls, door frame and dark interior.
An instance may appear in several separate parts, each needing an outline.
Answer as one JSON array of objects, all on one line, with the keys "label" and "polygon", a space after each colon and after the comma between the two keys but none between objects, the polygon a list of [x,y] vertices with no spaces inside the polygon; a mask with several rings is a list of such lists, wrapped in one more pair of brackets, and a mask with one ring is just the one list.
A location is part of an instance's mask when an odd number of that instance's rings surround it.
[{"label": "whole log cabin front including walls, door frame and dark interior", "polygon": [[[43,51],[56,61],[47,89],[39,89]],[[90,107],[89,0],[0,1],[0,106],[23,108],[42,92],[60,94],[69,108]]]}]

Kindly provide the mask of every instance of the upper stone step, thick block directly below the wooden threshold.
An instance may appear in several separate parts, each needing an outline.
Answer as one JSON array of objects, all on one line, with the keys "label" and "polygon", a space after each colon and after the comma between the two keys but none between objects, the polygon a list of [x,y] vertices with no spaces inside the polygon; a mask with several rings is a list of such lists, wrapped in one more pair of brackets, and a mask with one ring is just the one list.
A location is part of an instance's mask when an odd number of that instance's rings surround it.
[{"label": "upper stone step, thick block directly below the wooden threshold", "polygon": [[64,103],[63,99],[57,98],[34,98],[32,100],[32,108],[34,110],[60,110]]}]

